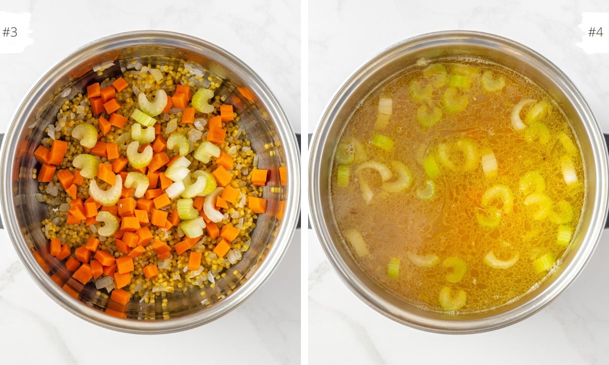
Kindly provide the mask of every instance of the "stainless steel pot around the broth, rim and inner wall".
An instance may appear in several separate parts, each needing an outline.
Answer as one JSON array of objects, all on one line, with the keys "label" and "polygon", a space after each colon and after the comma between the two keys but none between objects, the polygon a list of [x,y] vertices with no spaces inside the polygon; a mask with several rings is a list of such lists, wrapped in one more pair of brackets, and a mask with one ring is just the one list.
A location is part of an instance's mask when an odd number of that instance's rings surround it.
[{"label": "stainless steel pot around the broth, rim and inner wall", "polygon": [[[333,153],[345,122],[368,92],[421,58],[451,55],[503,64],[545,88],[562,106],[583,150],[586,165],[585,209],[569,254],[554,274],[512,304],[484,313],[450,316],[421,310],[385,291],[368,278],[345,248],[329,198]],[[315,231],[340,278],[362,301],[394,321],[439,333],[484,332],[527,318],[571,283],[590,259],[607,217],[605,139],[585,100],[568,77],[537,52],[514,41],[480,32],[438,32],[395,44],[354,72],[340,87],[322,116],[311,145],[309,205]]]}]

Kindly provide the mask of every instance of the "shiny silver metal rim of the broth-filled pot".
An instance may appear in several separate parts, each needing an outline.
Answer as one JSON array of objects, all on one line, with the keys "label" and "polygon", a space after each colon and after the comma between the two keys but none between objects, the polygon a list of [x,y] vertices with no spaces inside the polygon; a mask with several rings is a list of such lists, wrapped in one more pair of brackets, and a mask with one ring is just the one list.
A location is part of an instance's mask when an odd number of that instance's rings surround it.
[{"label": "shiny silver metal rim of the broth-filled pot", "polygon": [[[396,305],[383,300],[372,290],[367,288],[367,286],[353,274],[336,249],[337,245],[343,245],[343,243],[340,241],[334,243],[329,233],[328,226],[333,224],[331,223],[331,220],[333,219],[331,218],[332,214],[329,213],[328,217],[324,217],[325,214],[322,206],[323,200],[315,199],[316,196],[320,196],[320,186],[322,186],[322,184],[328,184],[328,181],[321,181],[317,171],[319,170],[320,165],[322,165],[323,148],[325,148],[327,144],[336,142],[336,137],[334,137],[334,139],[328,138],[329,128],[334,123],[340,123],[335,119],[336,112],[340,109],[342,102],[348,98],[349,94],[358,87],[357,83],[360,81],[362,75],[370,74],[373,70],[382,66],[384,61],[390,60],[392,55],[399,54],[400,50],[407,50],[411,47],[417,47],[418,45],[427,43],[437,42],[446,45],[451,41],[453,43],[463,43],[468,40],[476,44],[487,42],[489,43],[487,46],[499,44],[510,50],[521,52],[522,54],[531,57],[533,60],[538,61],[548,71],[551,71],[551,74],[556,78],[555,82],[560,82],[560,85],[566,88],[569,92],[569,97],[572,97],[571,102],[574,106],[577,106],[577,110],[579,111],[582,120],[587,121],[583,122],[583,124],[591,138],[594,152],[593,165],[597,172],[596,189],[588,190],[588,194],[596,194],[597,198],[596,204],[592,207],[593,220],[591,220],[586,232],[579,232],[580,235],[584,235],[583,242],[585,242],[585,244],[582,244],[577,252],[575,252],[571,265],[568,265],[560,274],[560,277],[557,280],[554,280],[546,290],[538,293],[535,297],[518,307],[506,311],[505,313],[500,313],[499,315],[471,320],[430,319],[415,315],[412,312],[403,310]],[[509,38],[471,30],[445,30],[441,32],[424,33],[392,44],[379,52],[379,54],[365,61],[362,66],[357,68],[356,71],[347,77],[345,82],[339,86],[332,99],[330,99],[326,105],[325,111],[320,117],[320,121],[313,136],[310,148],[311,155],[309,158],[309,210],[311,212],[312,224],[323,251],[333,268],[339,274],[342,282],[345,283],[359,299],[385,317],[412,328],[435,333],[479,333],[505,327],[533,315],[554,300],[558,294],[565,290],[574,279],[579,276],[586,263],[590,260],[604,229],[605,217],[607,217],[609,209],[607,201],[608,154],[605,138],[600,130],[599,123],[579,90],[554,63],[535,52],[535,50],[510,40]],[[326,222],[324,218],[326,218],[326,220],[328,220],[328,218],[330,219]]]}]

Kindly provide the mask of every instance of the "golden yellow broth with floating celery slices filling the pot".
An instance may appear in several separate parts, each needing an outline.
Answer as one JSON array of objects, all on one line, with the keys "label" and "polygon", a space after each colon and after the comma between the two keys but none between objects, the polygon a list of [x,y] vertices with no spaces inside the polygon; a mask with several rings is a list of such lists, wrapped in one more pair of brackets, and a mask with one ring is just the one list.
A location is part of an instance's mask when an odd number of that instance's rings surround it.
[{"label": "golden yellow broth with floating celery slices filling the pot", "polygon": [[[489,70],[492,74],[483,76]],[[486,84],[485,88],[482,78],[488,81],[489,76],[491,81],[502,77],[504,86]],[[466,98],[457,99],[467,100],[463,110],[446,102],[451,92]],[[390,114],[380,117],[388,119],[385,126],[382,120],[375,123],[381,98],[392,100]],[[512,113],[526,99],[534,101],[516,114],[523,122],[519,127],[523,129],[518,129]],[[541,101],[547,103],[546,109]],[[417,117],[421,105],[428,111],[438,108],[440,119],[429,127],[422,125]],[[546,113],[535,114],[533,108]],[[535,125],[530,127],[527,121]],[[540,123],[547,128],[545,136],[543,131],[535,134],[543,130]],[[375,142],[375,134],[389,137],[394,145]],[[551,96],[510,69],[459,59],[407,68],[370,92],[339,141],[330,181],[335,224],[362,270],[411,304],[473,313],[514,301],[552,273],[577,231],[585,176],[576,136]],[[487,176],[482,156],[489,154],[495,156],[497,169],[495,173],[489,169]],[[439,169],[434,178],[423,167],[426,156]],[[368,161],[390,170],[385,183],[398,176],[392,161],[401,162],[412,184],[398,192],[387,191],[377,170],[359,169]],[[569,161],[571,175],[565,175]],[[529,178],[521,189],[526,173],[542,176],[545,187],[527,184],[534,180]],[[417,190],[423,193],[428,180],[435,190],[426,200]],[[566,206],[571,207],[572,218]],[[362,243],[354,243],[353,232],[363,238],[364,253],[354,247]],[[489,252],[496,260],[489,259]],[[425,266],[420,266],[417,256],[427,260]]]}]

